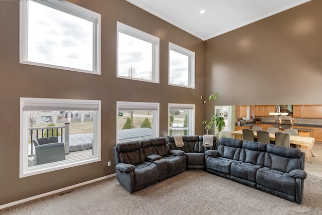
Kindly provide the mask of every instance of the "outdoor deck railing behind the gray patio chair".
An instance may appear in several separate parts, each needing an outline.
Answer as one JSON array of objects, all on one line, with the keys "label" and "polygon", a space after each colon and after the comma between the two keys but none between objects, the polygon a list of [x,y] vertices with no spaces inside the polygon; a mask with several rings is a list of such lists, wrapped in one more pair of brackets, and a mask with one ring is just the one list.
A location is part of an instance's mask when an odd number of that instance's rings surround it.
[{"label": "outdoor deck railing behind the gray patio chair", "polygon": [[[62,138],[63,136],[63,129],[64,129],[64,140]],[[35,135],[36,138],[43,138],[44,134],[47,132],[47,137],[49,134],[49,131],[51,131],[50,137],[58,137],[58,141],[60,138],[60,142],[65,144],[65,154],[69,153],[69,123],[65,123],[64,126],[52,126],[52,127],[31,127],[28,129],[30,132],[30,140],[32,140],[32,135]],[[58,131],[60,130],[60,137],[58,136]],[[36,134],[34,134],[34,131]],[[45,131],[45,132],[44,132]],[[54,136],[54,131],[56,131],[56,135]],[[33,156],[33,146],[34,143],[31,141],[31,152],[29,156]]]}]

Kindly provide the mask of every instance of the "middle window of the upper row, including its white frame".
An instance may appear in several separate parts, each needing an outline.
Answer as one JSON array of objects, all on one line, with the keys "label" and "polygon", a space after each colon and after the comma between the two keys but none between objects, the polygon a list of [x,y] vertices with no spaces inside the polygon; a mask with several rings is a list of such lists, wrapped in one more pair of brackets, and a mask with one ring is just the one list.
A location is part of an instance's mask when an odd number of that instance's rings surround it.
[{"label": "middle window of the upper row, including its white frame", "polygon": [[117,22],[117,77],[159,82],[159,38]]}]

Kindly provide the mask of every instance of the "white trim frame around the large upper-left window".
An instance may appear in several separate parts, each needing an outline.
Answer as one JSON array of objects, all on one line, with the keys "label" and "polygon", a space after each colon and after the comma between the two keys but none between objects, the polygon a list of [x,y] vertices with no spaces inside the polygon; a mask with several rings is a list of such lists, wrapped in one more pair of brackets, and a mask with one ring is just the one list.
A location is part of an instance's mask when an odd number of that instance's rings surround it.
[{"label": "white trim frame around the large upper-left window", "polygon": [[[67,14],[79,17],[84,20],[88,20],[93,23],[93,71],[50,65],[38,62],[28,61],[28,2],[34,1],[39,4],[54,8],[56,10],[65,12]],[[101,74],[101,15],[90,11],[88,9],[82,8],[65,0],[20,0],[20,21],[19,21],[19,49],[20,49],[20,63],[43,66],[55,69],[64,69],[76,72],[85,72],[91,74]]]}]

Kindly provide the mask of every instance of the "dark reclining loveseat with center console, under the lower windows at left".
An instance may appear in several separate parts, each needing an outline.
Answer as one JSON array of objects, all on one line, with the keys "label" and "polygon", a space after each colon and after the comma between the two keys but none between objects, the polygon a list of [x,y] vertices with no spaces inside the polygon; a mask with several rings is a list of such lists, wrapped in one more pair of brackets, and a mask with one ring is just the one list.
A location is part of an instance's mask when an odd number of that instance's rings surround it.
[{"label": "dark reclining loveseat with center console, under the lower windows at left", "polygon": [[165,137],[119,143],[113,147],[116,178],[129,192],[185,171],[183,151],[170,150]]}]

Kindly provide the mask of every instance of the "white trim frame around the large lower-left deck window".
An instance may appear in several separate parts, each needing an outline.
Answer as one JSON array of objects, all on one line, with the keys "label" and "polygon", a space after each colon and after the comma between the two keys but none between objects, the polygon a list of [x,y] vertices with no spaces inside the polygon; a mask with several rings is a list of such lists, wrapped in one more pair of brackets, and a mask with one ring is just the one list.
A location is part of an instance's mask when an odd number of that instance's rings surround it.
[{"label": "white trim frame around the large lower-left deck window", "polygon": [[[29,135],[28,134],[28,115],[24,113],[24,106],[30,105],[30,106],[36,107],[37,105],[39,105],[39,106],[46,107],[46,104],[56,105],[58,107],[59,105],[66,104],[66,106],[68,107],[74,106],[74,107],[78,107],[78,109],[82,108],[82,105],[85,105],[83,110],[87,109],[89,106],[92,106],[95,109],[97,109],[97,114],[95,114],[95,112],[93,114],[93,118],[96,118],[96,121],[93,120],[94,145],[93,145],[92,156],[28,167],[28,149],[27,149],[28,144],[26,144],[28,143],[28,135]],[[62,106],[62,108],[64,107],[65,106]],[[100,100],[21,97],[20,98],[20,155],[19,156],[20,156],[20,161],[19,161],[20,178],[101,161],[101,101]]]}]

